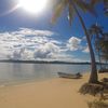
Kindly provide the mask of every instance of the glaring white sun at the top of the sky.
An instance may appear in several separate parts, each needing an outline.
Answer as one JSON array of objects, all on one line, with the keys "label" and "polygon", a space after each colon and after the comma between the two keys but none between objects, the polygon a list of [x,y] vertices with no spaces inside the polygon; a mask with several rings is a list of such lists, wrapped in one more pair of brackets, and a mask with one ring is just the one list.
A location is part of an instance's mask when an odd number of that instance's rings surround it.
[{"label": "glaring white sun at the top of the sky", "polygon": [[40,13],[46,8],[48,0],[19,0],[18,5],[29,13]]}]

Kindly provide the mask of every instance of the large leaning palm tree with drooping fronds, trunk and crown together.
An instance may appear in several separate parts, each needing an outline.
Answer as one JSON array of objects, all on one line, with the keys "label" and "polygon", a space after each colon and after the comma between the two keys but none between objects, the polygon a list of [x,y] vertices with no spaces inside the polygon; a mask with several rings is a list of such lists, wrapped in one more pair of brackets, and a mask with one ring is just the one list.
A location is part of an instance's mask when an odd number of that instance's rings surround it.
[{"label": "large leaning palm tree with drooping fronds, trunk and crown together", "polygon": [[89,44],[90,55],[91,55],[91,76],[90,76],[89,83],[97,83],[98,77],[97,77],[97,69],[96,69],[96,63],[95,63],[95,55],[92,48],[90,35],[85,27],[84,21],[80,14],[80,10],[82,10],[83,12],[90,12],[92,14],[95,14],[95,12],[93,8],[89,3],[86,3],[84,0],[58,0],[58,2],[56,3],[55,13],[52,17],[53,23],[56,22],[56,19],[59,17],[59,15],[65,9],[68,9],[70,25],[71,25],[75,14],[77,14],[77,16],[79,17],[79,21],[86,36],[86,41]]}]

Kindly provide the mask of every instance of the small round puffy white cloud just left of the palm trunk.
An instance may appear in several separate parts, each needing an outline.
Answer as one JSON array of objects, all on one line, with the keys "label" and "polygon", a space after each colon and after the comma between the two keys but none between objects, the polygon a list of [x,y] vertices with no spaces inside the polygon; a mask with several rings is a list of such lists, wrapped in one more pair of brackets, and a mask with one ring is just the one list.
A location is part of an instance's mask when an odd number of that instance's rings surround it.
[{"label": "small round puffy white cloud just left of the palm trunk", "polygon": [[80,50],[80,48],[81,48],[80,43],[81,43],[81,39],[80,38],[71,37],[68,40],[67,48],[70,51],[77,51],[77,50]]}]

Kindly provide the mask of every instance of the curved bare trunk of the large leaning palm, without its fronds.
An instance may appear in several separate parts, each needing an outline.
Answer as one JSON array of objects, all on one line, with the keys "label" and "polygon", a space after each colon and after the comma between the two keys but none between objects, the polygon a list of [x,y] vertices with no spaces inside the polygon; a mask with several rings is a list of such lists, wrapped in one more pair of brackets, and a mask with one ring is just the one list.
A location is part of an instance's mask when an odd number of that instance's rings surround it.
[{"label": "curved bare trunk of the large leaning palm, without its fronds", "polygon": [[81,23],[82,28],[84,30],[84,33],[86,36],[86,40],[87,40],[87,44],[89,44],[89,49],[90,49],[90,55],[91,55],[91,76],[90,76],[89,83],[97,83],[98,82],[97,68],[96,68],[95,55],[94,55],[94,51],[93,51],[93,48],[92,48],[90,35],[87,33],[85,24],[84,24],[81,15],[80,15],[78,9],[76,8],[75,3],[72,2],[71,4],[72,4],[72,6],[73,6],[73,9],[75,9],[79,19],[80,19],[80,23]]}]

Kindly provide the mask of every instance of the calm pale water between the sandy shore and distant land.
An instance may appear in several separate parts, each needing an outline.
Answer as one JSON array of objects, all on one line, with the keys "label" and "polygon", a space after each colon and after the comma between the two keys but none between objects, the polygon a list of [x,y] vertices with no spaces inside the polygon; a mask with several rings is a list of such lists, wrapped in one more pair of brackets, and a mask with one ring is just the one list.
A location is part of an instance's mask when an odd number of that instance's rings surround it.
[{"label": "calm pale water between the sandy shore and distant land", "polygon": [[0,84],[56,78],[57,71],[90,71],[90,65],[0,63]]}]

